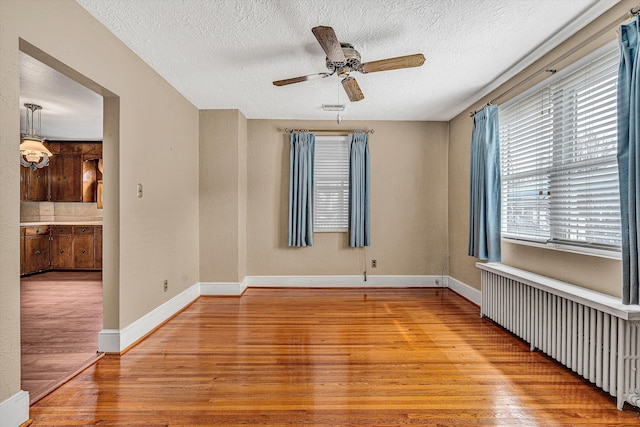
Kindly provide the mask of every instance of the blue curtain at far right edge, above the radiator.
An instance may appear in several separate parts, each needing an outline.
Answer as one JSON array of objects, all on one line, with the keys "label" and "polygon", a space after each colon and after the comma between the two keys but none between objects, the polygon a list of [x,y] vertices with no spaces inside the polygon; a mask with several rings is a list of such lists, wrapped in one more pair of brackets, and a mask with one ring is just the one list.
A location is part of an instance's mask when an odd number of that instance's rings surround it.
[{"label": "blue curtain at far right edge, above the radiator", "polygon": [[618,71],[618,173],[622,225],[622,303],[638,304],[640,214],[640,23],[620,27]]}]

